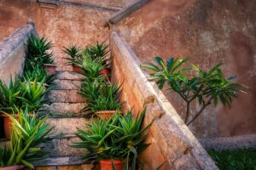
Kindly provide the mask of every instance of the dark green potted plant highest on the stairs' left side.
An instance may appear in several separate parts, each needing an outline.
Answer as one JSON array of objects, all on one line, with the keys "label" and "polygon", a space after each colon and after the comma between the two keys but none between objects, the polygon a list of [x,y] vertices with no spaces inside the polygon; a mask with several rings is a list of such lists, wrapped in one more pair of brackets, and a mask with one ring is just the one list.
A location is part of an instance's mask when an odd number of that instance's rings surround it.
[{"label": "dark green potted plant highest on the stairs' left side", "polygon": [[52,43],[45,37],[36,37],[33,34],[27,40],[25,70],[32,70],[34,66],[44,66],[49,75],[55,74],[53,54],[49,53]]}]

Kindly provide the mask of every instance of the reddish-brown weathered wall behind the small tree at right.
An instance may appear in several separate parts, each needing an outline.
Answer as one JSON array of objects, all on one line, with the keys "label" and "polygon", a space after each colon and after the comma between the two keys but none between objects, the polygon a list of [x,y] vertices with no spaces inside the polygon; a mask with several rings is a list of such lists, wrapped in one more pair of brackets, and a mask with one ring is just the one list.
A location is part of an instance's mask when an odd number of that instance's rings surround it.
[{"label": "reddish-brown weathered wall behind the small tree at right", "polygon": [[[151,0],[137,12],[111,26],[131,45],[143,63],[155,55],[190,57],[207,70],[222,63],[227,77],[247,85],[231,108],[209,107],[189,128],[198,137],[256,133],[256,1]],[[180,116],[185,104],[177,94],[163,91]],[[192,113],[199,105],[192,106]]]}]

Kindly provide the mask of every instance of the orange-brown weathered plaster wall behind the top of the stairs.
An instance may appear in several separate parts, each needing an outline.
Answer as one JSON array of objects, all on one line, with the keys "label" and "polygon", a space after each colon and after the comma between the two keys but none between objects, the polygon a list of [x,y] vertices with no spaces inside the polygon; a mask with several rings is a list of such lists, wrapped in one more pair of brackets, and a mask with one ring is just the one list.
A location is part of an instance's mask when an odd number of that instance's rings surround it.
[{"label": "orange-brown weathered plaster wall behind the top of the stairs", "polygon": [[36,1],[2,0],[0,1],[0,39],[7,37],[18,27],[26,25],[28,20],[32,20],[38,34],[48,37],[54,43],[53,52],[55,62],[58,64],[57,69],[68,70],[70,68],[65,65],[63,59],[67,56],[61,49],[73,44],[84,47],[96,41],[108,43],[108,28],[102,27],[102,22],[111,14],[113,14],[111,9],[104,8],[84,8],[67,4],[42,8]]}]

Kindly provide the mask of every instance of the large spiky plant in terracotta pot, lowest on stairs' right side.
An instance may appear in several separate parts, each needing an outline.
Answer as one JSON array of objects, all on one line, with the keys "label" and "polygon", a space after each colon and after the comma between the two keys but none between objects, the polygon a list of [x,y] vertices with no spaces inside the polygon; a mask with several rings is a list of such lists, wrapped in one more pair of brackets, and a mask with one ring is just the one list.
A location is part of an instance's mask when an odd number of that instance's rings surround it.
[{"label": "large spiky plant in terracotta pot, lowest on stairs' right side", "polygon": [[[147,130],[143,127],[145,110],[132,118],[131,111],[125,116],[115,114],[108,121],[91,119],[86,129],[78,129],[76,135],[81,142],[74,142],[74,148],[85,148],[88,152],[84,161],[99,161],[102,170],[123,170],[131,164],[136,167],[137,154],[148,147],[143,140],[147,138]],[[132,162],[130,163],[130,161]]]}]

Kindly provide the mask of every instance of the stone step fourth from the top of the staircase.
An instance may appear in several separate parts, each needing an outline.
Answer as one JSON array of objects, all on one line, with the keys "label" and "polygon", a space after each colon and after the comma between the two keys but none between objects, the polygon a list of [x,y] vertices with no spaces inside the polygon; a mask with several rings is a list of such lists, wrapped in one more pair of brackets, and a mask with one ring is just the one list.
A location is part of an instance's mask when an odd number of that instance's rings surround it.
[{"label": "stone step fourth from the top of the staircase", "polygon": [[83,116],[80,111],[85,105],[85,103],[52,103],[44,105],[43,110],[61,115]]}]

